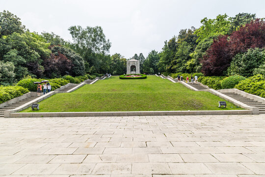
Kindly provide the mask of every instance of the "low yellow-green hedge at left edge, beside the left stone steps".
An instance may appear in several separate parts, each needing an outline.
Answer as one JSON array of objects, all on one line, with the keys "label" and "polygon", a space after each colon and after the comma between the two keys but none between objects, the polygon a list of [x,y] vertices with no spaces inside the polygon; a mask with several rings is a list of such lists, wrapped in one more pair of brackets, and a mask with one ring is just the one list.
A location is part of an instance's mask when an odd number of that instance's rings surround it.
[{"label": "low yellow-green hedge at left edge, beside the left stone steps", "polygon": [[0,103],[21,96],[27,92],[29,92],[28,89],[21,86],[0,87]]}]

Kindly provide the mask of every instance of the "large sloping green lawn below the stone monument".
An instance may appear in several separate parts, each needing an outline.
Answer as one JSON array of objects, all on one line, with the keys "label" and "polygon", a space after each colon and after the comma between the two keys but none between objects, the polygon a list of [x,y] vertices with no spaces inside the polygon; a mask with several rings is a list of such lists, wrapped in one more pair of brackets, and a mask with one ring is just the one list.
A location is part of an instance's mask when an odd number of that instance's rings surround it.
[{"label": "large sloping green lawn below the stone monument", "polygon": [[[104,111],[184,111],[238,110],[227,102],[205,91],[192,91],[167,79],[147,76],[147,79],[121,80],[110,77],[92,85],[85,85],[71,93],[55,94],[39,104],[34,112],[104,112]],[[231,108],[233,107],[233,108]],[[28,108],[22,112],[32,112]]]}]

